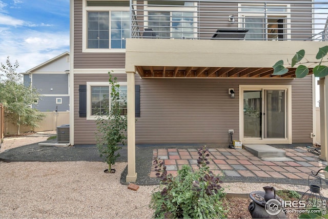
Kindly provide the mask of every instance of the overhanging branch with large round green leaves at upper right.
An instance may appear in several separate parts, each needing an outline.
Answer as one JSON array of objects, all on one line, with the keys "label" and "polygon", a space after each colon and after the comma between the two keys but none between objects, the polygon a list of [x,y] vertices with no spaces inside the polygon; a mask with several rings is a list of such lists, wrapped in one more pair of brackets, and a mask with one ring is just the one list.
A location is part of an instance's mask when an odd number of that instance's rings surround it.
[{"label": "overhanging branch with large round green leaves at upper right", "polygon": [[[289,61],[288,61],[288,65],[290,65],[292,68],[295,65],[298,65],[298,67],[296,68],[296,71],[295,71],[295,75],[298,78],[302,78],[302,77],[305,77],[306,75],[308,75],[310,72],[309,68],[303,64],[313,63],[314,65],[316,65],[313,68],[314,76],[324,77],[324,76],[328,75],[328,66],[322,65],[323,63],[328,62],[327,61],[327,53],[328,53],[328,46],[321,47],[321,48],[319,48],[319,51],[316,55],[316,59],[318,61],[310,62],[310,61],[306,60],[305,62],[301,62],[305,56],[305,50],[301,49],[300,51],[296,52],[296,54],[292,58],[292,63],[289,63]],[[283,60],[276,62],[276,64],[273,66],[273,69],[274,69],[273,75],[283,75],[288,72],[288,69],[285,67]]]}]

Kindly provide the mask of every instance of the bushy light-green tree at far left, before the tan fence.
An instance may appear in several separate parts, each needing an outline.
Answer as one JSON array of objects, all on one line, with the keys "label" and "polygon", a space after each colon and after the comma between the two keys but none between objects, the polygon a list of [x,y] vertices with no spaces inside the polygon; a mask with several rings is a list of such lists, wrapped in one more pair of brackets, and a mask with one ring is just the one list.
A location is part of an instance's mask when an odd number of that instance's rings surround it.
[{"label": "bushy light-green tree at far left, before the tan fence", "polygon": [[10,122],[17,125],[19,135],[20,126],[37,127],[45,114],[32,108],[39,101],[40,94],[32,86],[24,86],[23,75],[16,72],[18,66],[17,61],[12,65],[9,57],[7,57],[6,65],[1,63],[0,102],[4,103]]}]

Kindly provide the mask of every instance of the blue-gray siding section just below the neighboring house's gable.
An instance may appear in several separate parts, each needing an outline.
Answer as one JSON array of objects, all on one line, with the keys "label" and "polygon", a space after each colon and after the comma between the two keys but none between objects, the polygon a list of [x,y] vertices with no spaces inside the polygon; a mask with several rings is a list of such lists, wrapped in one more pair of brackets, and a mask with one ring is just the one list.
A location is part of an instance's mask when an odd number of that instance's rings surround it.
[{"label": "blue-gray siding section just below the neighboring house's gable", "polygon": [[40,94],[68,94],[68,76],[68,74],[33,74],[32,85]]}]

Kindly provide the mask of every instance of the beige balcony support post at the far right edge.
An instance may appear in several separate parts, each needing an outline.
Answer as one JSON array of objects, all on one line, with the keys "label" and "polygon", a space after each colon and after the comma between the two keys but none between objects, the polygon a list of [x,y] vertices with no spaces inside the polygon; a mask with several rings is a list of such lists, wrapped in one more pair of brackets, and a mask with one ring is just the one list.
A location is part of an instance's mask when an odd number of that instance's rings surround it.
[{"label": "beige balcony support post at the far right edge", "polygon": [[319,158],[321,160],[327,161],[327,109],[328,109],[328,99],[326,95],[327,91],[327,79],[320,78],[318,85],[320,85],[320,136],[321,136],[321,155]]}]

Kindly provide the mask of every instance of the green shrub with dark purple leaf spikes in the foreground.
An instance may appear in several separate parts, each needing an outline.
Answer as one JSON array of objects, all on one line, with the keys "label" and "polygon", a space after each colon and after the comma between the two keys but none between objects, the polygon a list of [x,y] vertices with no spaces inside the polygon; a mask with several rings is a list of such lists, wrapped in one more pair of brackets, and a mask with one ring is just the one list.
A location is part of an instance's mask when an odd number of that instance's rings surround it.
[{"label": "green shrub with dark purple leaf spikes in the foreground", "polygon": [[150,207],[155,218],[222,218],[227,213],[222,206],[226,195],[217,175],[209,170],[208,148],[198,150],[198,170],[183,165],[176,177],[168,174],[166,166],[155,159],[161,191],[152,194]]}]

